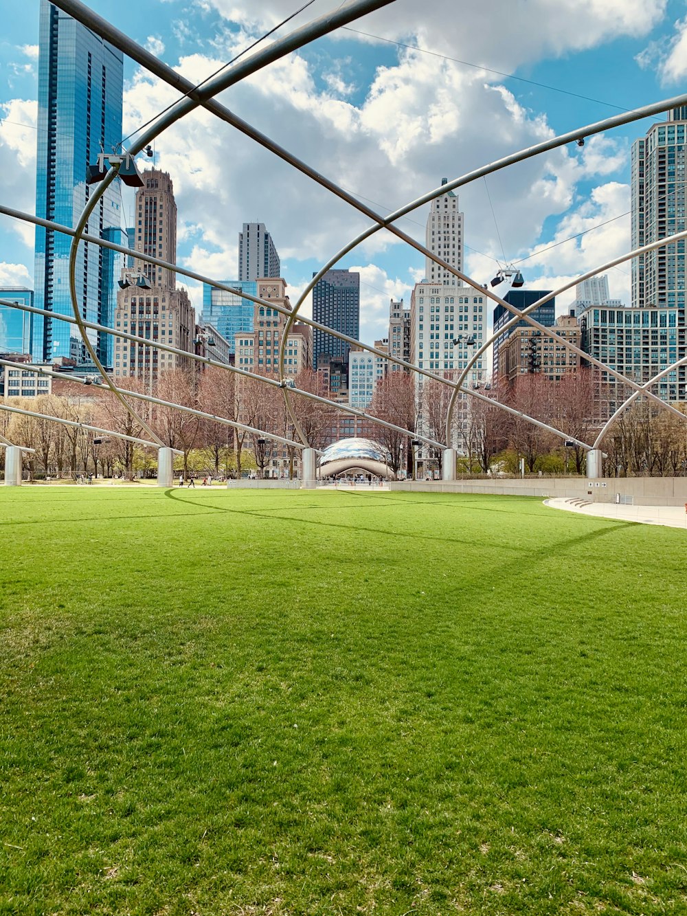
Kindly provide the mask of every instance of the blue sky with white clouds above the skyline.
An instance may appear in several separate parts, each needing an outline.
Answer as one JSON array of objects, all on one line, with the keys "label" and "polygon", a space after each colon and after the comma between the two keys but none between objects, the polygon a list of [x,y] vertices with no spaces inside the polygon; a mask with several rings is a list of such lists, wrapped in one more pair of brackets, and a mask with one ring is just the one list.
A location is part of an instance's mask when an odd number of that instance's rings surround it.
[{"label": "blue sky with white clouds above the skyline", "polygon": [[[314,0],[278,35],[337,5]],[[194,82],[298,8],[288,0],[91,6]],[[682,2],[529,0],[517,6],[517,17],[502,0],[429,6],[396,0],[354,25],[377,38],[346,30],[322,39],[224,93],[223,101],[389,212],[443,176],[453,179],[547,136],[682,92]],[[37,44],[38,2],[27,0],[21,17],[5,19],[0,40],[0,200],[29,212]],[[125,133],[175,97],[127,62]],[[467,272],[484,282],[498,261],[518,262],[530,288],[551,289],[627,250],[629,147],[647,126],[618,129],[459,191]],[[156,156],[175,185],[180,263],[214,278],[235,276],[241,224],[260,220],[275,239],[295,300],[312,271],[365,228],[364,218],[207,114],[160,136]],[[420,210],[401,225],[423,240],[425,219]],[[0,218],[0,242],[0,284],[30,285],[33,232]],[[564,244],[548,247],[555,243]],[[417,252],[381,233],[341,266],[361,272],[361,333],[368,342],[385,333],[388,300],[409,300],[424,273]],[[628,267],[612,271],[609,284],[614,297],[629,301]],[[200,310],[200,289],[189,289]]]}]

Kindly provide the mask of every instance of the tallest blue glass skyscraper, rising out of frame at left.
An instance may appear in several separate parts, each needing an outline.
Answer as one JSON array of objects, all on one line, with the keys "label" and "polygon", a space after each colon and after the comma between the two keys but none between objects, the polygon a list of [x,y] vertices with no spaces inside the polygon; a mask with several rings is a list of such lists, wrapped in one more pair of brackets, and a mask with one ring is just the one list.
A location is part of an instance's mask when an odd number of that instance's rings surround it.
[{"label": "tallest blue glass skyscraper, rising out of frame at left", "polygon": [[[123,58],[48,0],[40,0],[38,54],[38,159],[36,213],[75,226],[94,187],[86,167],[98,153],[122,139]],[[86,226],[89,234],[126,244],[119,181],[98,203]],[[71,315],[69,251],[71,236],[38,226],[36,230],[36,305]],[[82,316],[107,323],[111,315],[114,263],[100,245],[80,245],[76,289]],[[85,348],[73,325],[34,316],[34,360],[84,359]],[[89,332],[98,358],[107,362],[108,334]]]}]

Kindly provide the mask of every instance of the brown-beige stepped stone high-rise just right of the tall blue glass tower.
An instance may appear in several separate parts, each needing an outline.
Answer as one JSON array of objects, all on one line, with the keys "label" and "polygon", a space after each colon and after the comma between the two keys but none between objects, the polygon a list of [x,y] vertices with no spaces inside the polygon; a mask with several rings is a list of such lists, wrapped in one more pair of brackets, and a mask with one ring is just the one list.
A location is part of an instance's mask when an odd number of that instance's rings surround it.
[{"label": "brown-beige stepped stone high-rise just right of the tall blue glass tower", "polygon": [[[144,172],[142,178],[144,187],[136,191],[136,251],[175,264],[177,204],[171,179],[158,169]],[[143,277],[148,288],[142,285]],[[117,293],[114,328],[192,353],[195,311],[186,289],[176,288],[174,271],[136,258],[133,270],[124,271],[123,278],[129,285]],[[192,361],[115,337],[113,364],[114,376],[136,376],[152,388],[160,372],[191,368]]]}]

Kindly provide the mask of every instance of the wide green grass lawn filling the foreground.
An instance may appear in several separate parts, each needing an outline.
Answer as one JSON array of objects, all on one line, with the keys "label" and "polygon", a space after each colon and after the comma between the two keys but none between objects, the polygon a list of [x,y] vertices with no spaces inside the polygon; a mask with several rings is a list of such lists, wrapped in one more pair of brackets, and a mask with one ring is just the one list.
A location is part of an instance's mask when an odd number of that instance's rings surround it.
[{"label": "wide green grass lawn filling the foreground", "polygon": [[0,912],[687,912],[685,532],[0,488]]}]

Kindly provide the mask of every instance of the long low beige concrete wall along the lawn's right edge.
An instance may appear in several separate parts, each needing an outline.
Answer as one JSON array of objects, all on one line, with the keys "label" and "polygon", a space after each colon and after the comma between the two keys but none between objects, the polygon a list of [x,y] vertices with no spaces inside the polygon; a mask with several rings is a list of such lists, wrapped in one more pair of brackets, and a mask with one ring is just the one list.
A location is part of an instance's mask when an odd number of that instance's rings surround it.
[{"label": "long low beige concrete wall along the lawn's right edge", "polygon": [[493,493],[495,496],[579,497],[593,503],[621,501],[634,506],[687,504],[687,477],[526,477],[518,480],[389,481],[390,490],[434,493]]}]

